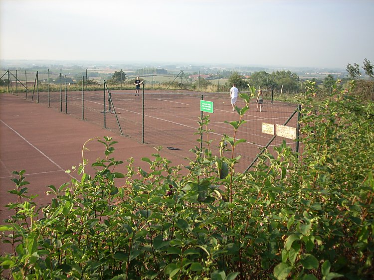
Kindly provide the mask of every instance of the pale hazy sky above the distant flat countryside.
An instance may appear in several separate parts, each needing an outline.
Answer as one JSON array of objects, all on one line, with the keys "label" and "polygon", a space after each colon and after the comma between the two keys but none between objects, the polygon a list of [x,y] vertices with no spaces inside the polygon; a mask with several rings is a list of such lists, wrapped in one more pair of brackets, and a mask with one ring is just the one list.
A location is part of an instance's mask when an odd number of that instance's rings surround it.
[{"label": "pale hazy sky above the distant flat countryside", "polygon": [[374,0],[0,0],[0,58],[345,68]]}]

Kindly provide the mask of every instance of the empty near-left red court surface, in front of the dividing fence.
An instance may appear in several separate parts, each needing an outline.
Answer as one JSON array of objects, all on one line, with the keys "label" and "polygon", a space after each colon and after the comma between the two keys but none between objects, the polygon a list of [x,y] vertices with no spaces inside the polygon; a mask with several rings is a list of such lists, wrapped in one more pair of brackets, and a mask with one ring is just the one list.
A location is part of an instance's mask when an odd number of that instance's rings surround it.
[{"label": "empty near-left red court surface, in front of the dividing fence", "polygon": [[[127,173],[126,159],[135,158],[134,166],[148,170],[149,164],[142,157],[152,157],[155,149],[100,128],[90,122],[83,122],[68,114],[61,114],[42,104],[36,104],[11,94],[0,94],[0,224],[8,217],[4,205],[15,201],[17,197],[7,193],[15,187],[11,181],[15,176],[12,171],[25,169],[26,187],[29,194],[38,194],[37,204],[50,201],[45,195],[48,185],[59,187],[70,182],[71,177],[65,170],[82,162],[82,146],[85,141],[104,136],[118,141],[114,145],[113,157],[123,160],[116,171]],[[104,145],[96,140],[87,144],[85,151],[88,165],[96,158],[104,158]],[[186,160],[161,151],[161,156],[168,157],[173,165],[186,164]],[[86,169],[89,171],[90,169]],[[93,170],[87,172],[93,174]],[[72,173],[79,178],[79,175]],[[2,244],[0,251],[3,252]]]}]

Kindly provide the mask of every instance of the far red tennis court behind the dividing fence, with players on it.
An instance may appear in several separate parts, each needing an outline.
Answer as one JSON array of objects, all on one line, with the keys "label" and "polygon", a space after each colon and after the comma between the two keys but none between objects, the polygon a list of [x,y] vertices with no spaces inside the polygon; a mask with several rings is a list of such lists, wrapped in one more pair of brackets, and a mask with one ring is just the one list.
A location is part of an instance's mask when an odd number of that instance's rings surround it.
[{"label": "far red tennis court behind the dividing fence, with players on it", "polygon": [[[110,98],[109,98],[110,94]],[[26,93],[17,93],[26,98]],[[199,93],[192,91],[157,91],[141,90],[140,96],[134,91],[82,91],[82,92],[29,92],[27,99],[45,104],[61,113],[89,121],[98,126],[126,136],[130,139],[152,146],[170,148],[170,152],[180,158],[193,157],[189,152],[195,145],[199,146],[196,135],[198,121],[201,116],[200,101],[213,102],[213,113],[209,115],[208,135],[203,140],[212,140],[211,150],[218,154],[219,140],[223,135],[234,136],[233,128],[225,121],[238,121],[239,115],[232,111],[229,93]],[[239,98],[237,106],[243,107],[244,101]],[[262,133],[263,123],[283,125],[295,112],[295,104],[270,102],[264,100],[264,111],[257,112],[255,100],[251,101],[250,110],[245,113],[245,121],[235,139],[245,139],[239,144],[234,156],[241,155],[236,171],[244,171],[258,152],[273,135]],[[296,128],[297,114],[291,118],[287,126]],[[295,141],[277,137],[269,146],[279,145],[283,140],[295,150]],[[231,154],[226,154],[231,156]]]}]

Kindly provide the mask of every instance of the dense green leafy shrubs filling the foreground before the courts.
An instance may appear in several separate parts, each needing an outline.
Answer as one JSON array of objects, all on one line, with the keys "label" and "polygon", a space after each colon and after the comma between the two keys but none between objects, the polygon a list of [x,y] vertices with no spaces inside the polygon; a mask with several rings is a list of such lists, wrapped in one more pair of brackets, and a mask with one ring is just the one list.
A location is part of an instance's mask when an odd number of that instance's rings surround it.
[{"label": "dense green leafy shrubs filling the foreground before the courts", "polygon": [[83,159],[71,171],[80,180],[49,186],[46,207],[28,194],[24,170],[14,172],[12,214],[0,227],[12,248],[0,257],[2,278],[373,279],[374,107],[351,93],[334,85],[316,105],[308,83],[299,97],[302,152],[284,142],[244,174],[232,151],[244,141],[235,136],[246,94],[219,157],[210,151],[209,118],[200,120],[204,148],[191,149],[187,172],[159,148],[143,158],[149,170],[130,158],[122,173],[107,137],[95,175]]}]

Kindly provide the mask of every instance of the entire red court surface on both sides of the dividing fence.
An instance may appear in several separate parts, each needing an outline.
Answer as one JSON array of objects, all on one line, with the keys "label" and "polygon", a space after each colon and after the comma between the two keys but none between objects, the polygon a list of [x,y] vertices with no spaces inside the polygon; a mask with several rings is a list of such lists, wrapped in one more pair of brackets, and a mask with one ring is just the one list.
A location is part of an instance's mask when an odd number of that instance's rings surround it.
[{"label": "entire red court surface on both sides of the dividing fence", "polygon": [[[113,137],[119,143],[115,144],[113,156],[123,160],[116,171],[127,173],[126,160],[135,158],[134,166],[148,169],[148,163],[142,157],[152,157],[156,150],[153,146],[163,146],[161,156],[172,161],[172,165],[186,165],[185,157],[193,158],[189,151],[199,145],[195,135],[200,111],[199,93],[166,93],[152,92],[134,96],[134,91],[112,93],[112,101],[121,125],[123,135],[120,136],[119,126],[115,114],[106,113],[106,128],[104,129],[104,102],[106,110],[108,100],[104,98],[103,91],[84,93],[84,117],[82,116],[81,92],[53,92],[34,94],[33,101],[25,99],[25,93],[0,94],[0,220],[7,217],[4,207],[11,199],[16,197],[7,193],[14,188],[11,172],[25,169],[26,180],[30,182],[27,187],[29,194],[38,194],[38,204],[48,203],[45,196],[48,185],[59,187],[69,182],[71,177],[65,170],[71,166],[78,166],[82,162],[82,146],[85,141],[104,136]],[[228,93],[204,94],[204,100],[214,102],[214,113],[210,115],[208,129],[209,139],[213,140],[211,149],[217,154],[219,140],[224,134],[233,136],[233,130],[225,121],[238,120],[237,112],[233,112]],[[36,101],[39,100],[40,104]],[[67,103],[65,101],[68,101]],[[143,107],[144,104],[144,107]],[[51,108],[48,108],[48,105]],[[238,107],[244,105],[238,101]],[[143,114],[144,108],[144,114]],[[68,114],[66,114],[66,109]],[[113,110],[113,108],[111,108]],[[256,112],[256,105],[251,103],[250,110],[245,113],[246,124],[239,129],[236,139],[245,139],[246,143],[237,146],[236,155],[242,156],[236,171],[243,171],[252,162],[262,146],[272,138],[272,135],[263,134],[262,123],[283,124],[296,109],[296,105],[287,105],[280,102],[264,104],[264,112]],[[62,112],[61,112],[62,111]],[[109,110],[108,110],[109,112]],[[204,113],[207,115],[208,113]],[[83,117],[83,118],[82,118]],[[85,121],[82,121],[84,119]],[[142,126],[144,124],[142,134]],[[289,126],[296,126],[296,118],[291,119]],[[146,144],[142,144],[144,142]],[[272,145],[279,145],[286,140],[295,146],[293,140],[276,138]],[[168,150],[167,147],[176,147],[180,150]],[[96,140],[87,144],[89,151],[85,157],[90,166],[96,158],[104,158],[104,145]],[[273,150],[270,146],[269,150]],[[230,156],[226,153],[225,156]],[[87,173],[93,174],[93,170]],[[79,175],[72,173],[79,178]],[[120,182],[119,182],[120,183]]]}]

